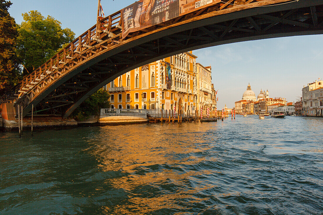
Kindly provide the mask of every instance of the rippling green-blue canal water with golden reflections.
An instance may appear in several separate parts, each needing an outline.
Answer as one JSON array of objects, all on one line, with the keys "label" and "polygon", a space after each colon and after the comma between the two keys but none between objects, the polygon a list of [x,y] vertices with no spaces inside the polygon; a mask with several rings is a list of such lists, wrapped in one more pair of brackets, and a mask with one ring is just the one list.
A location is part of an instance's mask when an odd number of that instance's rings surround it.
[{"label": "rippling green-blue canal water with golden reflections", "polygon": [[323,214],[323,118],[0,133],[0,214]]}]

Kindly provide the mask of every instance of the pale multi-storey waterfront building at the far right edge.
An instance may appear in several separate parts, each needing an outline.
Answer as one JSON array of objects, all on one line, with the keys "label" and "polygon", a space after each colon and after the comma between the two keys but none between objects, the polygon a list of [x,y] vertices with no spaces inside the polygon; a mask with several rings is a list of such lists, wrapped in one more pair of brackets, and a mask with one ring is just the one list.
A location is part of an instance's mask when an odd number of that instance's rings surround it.
[{"label": "pale multi-storey waterfront building at the far right edge", "polygon": [[323,84],[319,78],[302,89],[302,115],[323,116]]}]

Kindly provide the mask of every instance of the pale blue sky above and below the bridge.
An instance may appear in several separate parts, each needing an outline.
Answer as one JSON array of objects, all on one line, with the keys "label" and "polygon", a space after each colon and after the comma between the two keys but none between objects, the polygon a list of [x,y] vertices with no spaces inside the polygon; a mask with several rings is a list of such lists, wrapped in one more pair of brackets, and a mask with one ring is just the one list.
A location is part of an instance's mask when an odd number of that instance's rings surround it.
[{"label": "pale blue sky above and below the bridge", "polygon": [[[22,13],[38,10],[71,28],[76,36],[95,25],[97,0],[11,0],[9,9],[17,24]],[[105,15],[110,15],[134,0],[101,0]],[[193,51],[197,62],[212,66],[212,81],[218,89],[218,109],[234,106],[250,82],[256,96],[268,89],[270,97],[296,101],[303,85],[323,78],[323,35],[294,36],[247,41]]]}]

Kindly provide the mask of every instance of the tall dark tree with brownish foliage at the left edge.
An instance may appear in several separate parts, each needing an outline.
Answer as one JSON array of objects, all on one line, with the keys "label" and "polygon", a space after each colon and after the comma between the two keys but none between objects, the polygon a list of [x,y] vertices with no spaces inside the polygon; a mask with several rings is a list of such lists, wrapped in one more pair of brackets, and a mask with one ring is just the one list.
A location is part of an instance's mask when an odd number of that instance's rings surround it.
[{"label": "tall dark tree with brownish foliage at the left edge", "polygon": [[19,68],[16,55],[18,37],[15,19],[8,13],[10,1],[0,0],[0,96],[18,82]]}]

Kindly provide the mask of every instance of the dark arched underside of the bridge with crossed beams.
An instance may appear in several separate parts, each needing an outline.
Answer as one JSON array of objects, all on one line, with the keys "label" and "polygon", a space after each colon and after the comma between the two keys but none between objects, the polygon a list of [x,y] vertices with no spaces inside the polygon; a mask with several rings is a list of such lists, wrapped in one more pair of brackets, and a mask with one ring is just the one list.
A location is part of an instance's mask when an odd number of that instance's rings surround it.
[{"label": "dark arched underside of the bridge with crossed beams", "polygon": [[146,36],[138,39],[134,36],[128,43],[114,41],[115,48],[106,52],[100,47],[91,49],[91,60],[54,78],[52,84],[40,89],[37,95],[27,93],[15,105],[23,105],[24,116],[34,104],[36,114],[68,117],[86,98],[116,77],[167,56],[239,41],[322,33],[323,5],[318,0],[255,7],[203,19],[193,17],[181,25],[151,34],[140,32],[139,36]]}]

